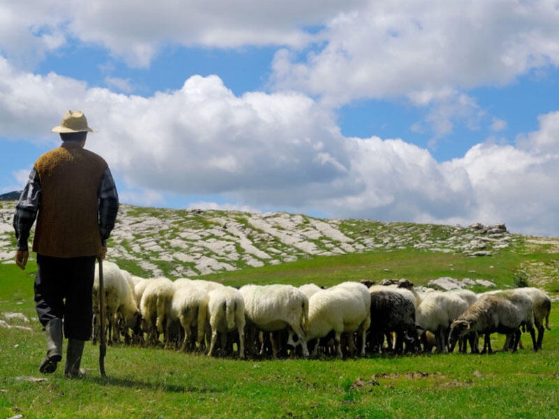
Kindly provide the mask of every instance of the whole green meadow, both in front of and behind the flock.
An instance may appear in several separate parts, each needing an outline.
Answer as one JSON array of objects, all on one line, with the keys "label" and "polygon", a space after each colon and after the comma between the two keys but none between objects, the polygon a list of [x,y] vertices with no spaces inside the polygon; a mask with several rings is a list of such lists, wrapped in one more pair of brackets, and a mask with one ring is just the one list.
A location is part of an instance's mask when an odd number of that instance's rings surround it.
[{"label": "whole green meadow, both in front of and behind the flock", "polygon": [[[556,296],[558,254],[516,247],[488,258],[404,249],[317,257],[212,274],[246,283],[332,285],[341,281],[437,277],[487,279],[499,287],[528,281]],[[531,267],[531,268],[530,268]],[[535,271],[544,272],[543,280]],[[530,268],[530,269],[529,269]],[[108,377],[99,347],[86,344],[87,376],[43,375],[43,332],[34,312],[36,265],[0,265],[0,319],[21,312],[30,323],[0,328],[0,418],[556,418],[559,412],[559,302],[544,348],[528,335],[517,353],[371,356],[336,360],[233,360],[156,348],[109,346]],[[526,273],[528,272],[528,273]],[[532,272],[532,273],[530,273]],[[133,272],[134,273],[134,272]],[[474,291],[482,291],[477,289]],[[493,335],[494,348],[502,337]]]}]

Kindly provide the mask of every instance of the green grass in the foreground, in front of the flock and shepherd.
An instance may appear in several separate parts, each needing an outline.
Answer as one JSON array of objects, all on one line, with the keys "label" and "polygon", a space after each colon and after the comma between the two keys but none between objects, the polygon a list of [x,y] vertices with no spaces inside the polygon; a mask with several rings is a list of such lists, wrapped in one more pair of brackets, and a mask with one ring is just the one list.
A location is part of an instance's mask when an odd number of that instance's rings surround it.
[{"label": "green grass in the foreground, in front of the flock and shepherd", "polygon": [[555,418],[559,409],[556,330],[539,353],[491,356],[238,361],[110,347],[106,379],[88,344],[87,378],[57,371],[43,382],[27,380],[41,376],[41,333],[2,334],[5,418]]}]

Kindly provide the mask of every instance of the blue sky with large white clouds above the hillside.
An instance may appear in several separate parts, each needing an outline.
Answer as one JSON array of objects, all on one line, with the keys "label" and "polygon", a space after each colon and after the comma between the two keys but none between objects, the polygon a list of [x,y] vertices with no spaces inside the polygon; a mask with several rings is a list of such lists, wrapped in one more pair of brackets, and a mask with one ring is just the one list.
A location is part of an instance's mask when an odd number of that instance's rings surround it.
[{"label": "blue sky with large white clouds above the hillside", "polygon": [[0,193],[80,109],[124,203],[556,236],[558,65],[558,1],[0,0]]}]

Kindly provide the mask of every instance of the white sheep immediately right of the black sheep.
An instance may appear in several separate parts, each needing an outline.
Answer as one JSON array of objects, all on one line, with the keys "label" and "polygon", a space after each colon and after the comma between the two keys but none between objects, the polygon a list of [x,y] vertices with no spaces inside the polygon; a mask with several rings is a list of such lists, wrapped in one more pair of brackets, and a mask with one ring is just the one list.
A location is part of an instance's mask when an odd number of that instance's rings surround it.
[{"label": "white sheep immediately right of the black sheep", "polygon": [[451,323],[463,314],[469,304],[456,293],[427,293],[416,308],[415,321],[421,335],[426,330],[437,339],[437,352],[448,352],[448,334]]}]

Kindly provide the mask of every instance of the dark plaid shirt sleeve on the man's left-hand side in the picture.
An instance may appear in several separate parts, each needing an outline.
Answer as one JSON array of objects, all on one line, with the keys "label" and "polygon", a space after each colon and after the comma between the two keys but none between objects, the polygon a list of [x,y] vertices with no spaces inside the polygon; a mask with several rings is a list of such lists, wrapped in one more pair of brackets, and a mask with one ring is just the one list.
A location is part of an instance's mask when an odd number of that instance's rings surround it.
[{"label": "dark plaid shirt sleeve on the man's left-hand side in the picture", "polygon": [[41,180],[35,168],[29,173],[29,180],[15,206],[13,228],[17,240],[17,250],[29,250],[29,231],[35,222],[41,204]]}]

